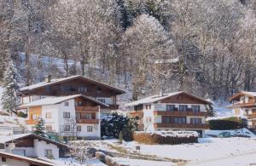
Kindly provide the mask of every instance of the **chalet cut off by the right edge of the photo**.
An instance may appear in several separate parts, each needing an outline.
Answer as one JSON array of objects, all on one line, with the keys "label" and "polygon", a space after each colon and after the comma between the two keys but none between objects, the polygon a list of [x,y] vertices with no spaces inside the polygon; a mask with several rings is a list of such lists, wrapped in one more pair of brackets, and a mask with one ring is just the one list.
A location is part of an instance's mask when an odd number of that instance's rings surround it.
[{"label": "chalet cut off by the right edge of the photo", "polygon": [[230,102],[234,115],[246,119],[249,129],[256,129],[256,92],[242,91],[231,96]]}]

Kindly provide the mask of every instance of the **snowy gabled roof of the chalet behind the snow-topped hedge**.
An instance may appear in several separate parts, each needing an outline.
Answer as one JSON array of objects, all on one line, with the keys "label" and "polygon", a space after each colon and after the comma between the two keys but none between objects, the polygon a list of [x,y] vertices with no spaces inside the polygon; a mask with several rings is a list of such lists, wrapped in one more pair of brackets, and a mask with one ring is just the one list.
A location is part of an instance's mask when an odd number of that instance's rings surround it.
[{"label": "snowy gabled roof of the chalet behind the snow-topped hedge", "polygon": [[175,96],[177,94],[187,94],[190,97],[193,97],[197,100],[201,100],[201,101],[205,102],[206,104],[212,104],[212,102],[210,102],[208,100],[204,100],[204,99],[202,99],[200,97],[197,97],[195,95],[180,91],[180,92],[173,92],[173,93],[169,93],[169,94],[163,94],[161,96],[158,95],[158,94],[151,95],[151,96],[143,98],[141,100],[136,100],[136,101],[133,101],[131,103],[128,103],[125,106],[137,106],[137,105],[141,105],[141,104],[154,103],[154,102],[157,102],[157,101],[160,101],[160,100],[165,100],[165,99],[167,99],[169,97],[172,97],[172,96]]}]

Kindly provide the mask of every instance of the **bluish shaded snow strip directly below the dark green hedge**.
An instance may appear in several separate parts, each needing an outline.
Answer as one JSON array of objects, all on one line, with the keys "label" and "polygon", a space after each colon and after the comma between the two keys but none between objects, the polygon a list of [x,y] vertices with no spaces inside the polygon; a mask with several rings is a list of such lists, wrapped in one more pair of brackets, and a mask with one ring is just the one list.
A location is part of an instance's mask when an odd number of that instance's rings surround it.
[{"label": "bluish shaded snow strip directly below the dark green hedge", "polygon": [[247,135],[250,137],[255,137],[256,135],[254,135],[251,131],[249,131],[248,129],[233,129],[233,130],[211,130],[211,129],[207,129],[205,131],[205,135],[216,135],[218,136],[220,133],[222,132],[230,132],[231,135]]}]

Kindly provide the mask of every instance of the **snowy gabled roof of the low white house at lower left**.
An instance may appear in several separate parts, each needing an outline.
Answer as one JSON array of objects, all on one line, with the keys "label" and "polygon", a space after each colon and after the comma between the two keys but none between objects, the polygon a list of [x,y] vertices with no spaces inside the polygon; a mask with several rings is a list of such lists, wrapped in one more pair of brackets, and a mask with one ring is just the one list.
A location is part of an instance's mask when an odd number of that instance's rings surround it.
[{"label": "snowy gabled roof of the low white house at lower left", "polygon": [[50,140],[48,138],[39,136],[39,135],[34,135],[32,133],[27,133],[27,134],[20,134],[20,135],[9,135],[9,136],[4,136],[1,135],[0,138],[0,143],[10,143],[12,141],[15,142],[15,140],[26,140],[27,138],[34,138],[38,140],[44,140],[45,142],[54,144],[55,146],[61,146],[61,147],[67,147],[65,144],[61,144],[60,142],[57,142],[55,140]]}]

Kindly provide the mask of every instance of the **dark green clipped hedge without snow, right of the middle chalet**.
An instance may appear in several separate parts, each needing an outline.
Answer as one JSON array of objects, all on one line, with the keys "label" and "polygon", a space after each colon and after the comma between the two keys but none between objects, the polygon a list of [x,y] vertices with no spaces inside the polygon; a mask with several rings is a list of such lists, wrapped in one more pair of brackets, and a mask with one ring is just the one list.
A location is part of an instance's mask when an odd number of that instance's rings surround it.
[{"label": "dark green clipped hedge without snow, right of the middle chalet", "polygon": [[210,120],[208,123],[210,129],[215,130],[242,129],[246,127],[243,121],[238,117]]}]

